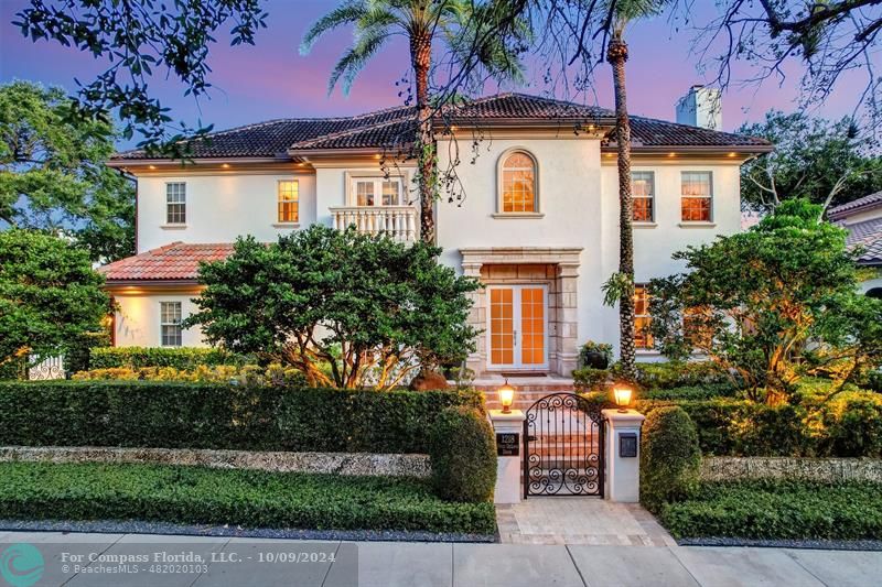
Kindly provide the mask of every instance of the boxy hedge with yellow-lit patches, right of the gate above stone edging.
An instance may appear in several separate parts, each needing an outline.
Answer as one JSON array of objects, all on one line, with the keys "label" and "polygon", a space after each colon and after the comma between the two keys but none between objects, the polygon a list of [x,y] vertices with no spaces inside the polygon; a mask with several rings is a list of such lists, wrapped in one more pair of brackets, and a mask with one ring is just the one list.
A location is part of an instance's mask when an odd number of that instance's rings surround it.
[{"label": "boxy hedge with yellow-lit patches, right of the gate above stone edging", "polygon": [[875,393],[775,406],[733,398],[647,399],[636,407],[648,413],[674,404],[695,422],[706,455],[882,457],[882,396]]}]

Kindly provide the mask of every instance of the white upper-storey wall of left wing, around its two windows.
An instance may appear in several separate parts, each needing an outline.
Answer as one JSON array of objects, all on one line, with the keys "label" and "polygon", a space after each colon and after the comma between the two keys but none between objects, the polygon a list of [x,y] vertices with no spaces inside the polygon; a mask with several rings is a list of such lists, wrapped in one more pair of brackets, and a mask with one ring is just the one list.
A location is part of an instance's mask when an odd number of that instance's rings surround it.
[{"label": "white upper-storey wall of left wing, around its two windows", "polygon": [[[138,252],[174,241],[233,242],[240,235],[254,235],[265,242],[275,241],[291,227],[276,227],[278,221],[278,182],[300,182],[300,226],[315,221],[314,174],[280,170],[278,172],[230,171],[216,174],[149,174],[138,177]],[[186,184],[186,226],[165,225],[165,184]]]}]

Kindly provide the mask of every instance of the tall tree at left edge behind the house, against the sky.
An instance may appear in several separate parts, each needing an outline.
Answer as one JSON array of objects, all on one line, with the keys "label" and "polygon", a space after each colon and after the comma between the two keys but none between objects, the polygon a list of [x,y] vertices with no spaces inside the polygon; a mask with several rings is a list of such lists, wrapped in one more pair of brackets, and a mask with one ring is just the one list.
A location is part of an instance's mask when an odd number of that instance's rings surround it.
[{"label": "tall tree at left edge behind the house, against the sky", "polygon": [[135,187],[105,166],[109,123],[71,116],[60,88],[0,86],[0,222],[64,231],[94,261],[135,251]]}]

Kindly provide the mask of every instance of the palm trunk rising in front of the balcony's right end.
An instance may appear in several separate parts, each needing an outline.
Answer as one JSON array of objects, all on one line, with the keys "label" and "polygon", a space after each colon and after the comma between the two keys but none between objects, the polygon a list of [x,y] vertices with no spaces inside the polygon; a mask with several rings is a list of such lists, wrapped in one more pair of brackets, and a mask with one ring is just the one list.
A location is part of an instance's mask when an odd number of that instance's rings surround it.
[{"label": "palm trunk rising in front of the balcony's right end", "polygon": [[430,32],[415,33],[410,37],[410,58],[417,83],[420,238],[423,242],[434,242],[434,144],[432,141],[432,109],[429,104],[429,67],[432,58]]}]

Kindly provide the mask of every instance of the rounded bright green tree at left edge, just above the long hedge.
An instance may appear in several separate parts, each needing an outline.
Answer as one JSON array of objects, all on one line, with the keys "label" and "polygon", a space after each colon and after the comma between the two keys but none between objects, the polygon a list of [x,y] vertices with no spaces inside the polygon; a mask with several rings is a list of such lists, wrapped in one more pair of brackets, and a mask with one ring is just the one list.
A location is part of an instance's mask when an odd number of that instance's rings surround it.
[{"label": "rounded bright green tree at left edge, just above the long hedge", "polygon": [[0,231],[0,367],[62,355],[101,329],[110,300],[88,252],[39,231]]}]

